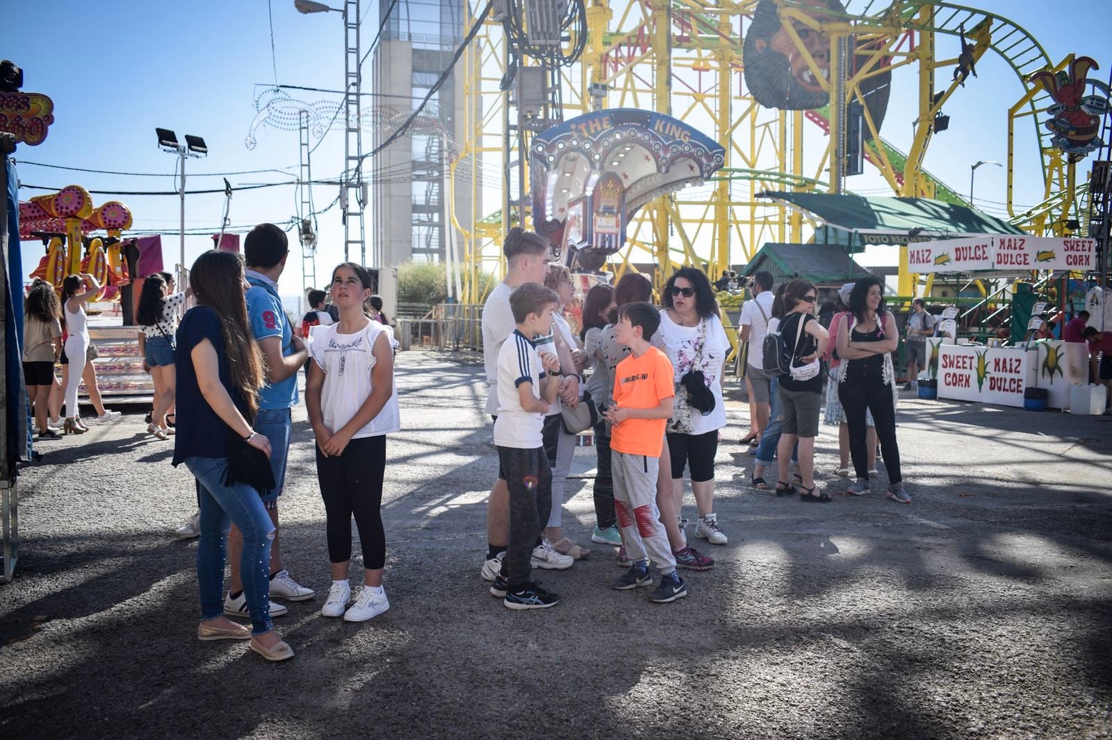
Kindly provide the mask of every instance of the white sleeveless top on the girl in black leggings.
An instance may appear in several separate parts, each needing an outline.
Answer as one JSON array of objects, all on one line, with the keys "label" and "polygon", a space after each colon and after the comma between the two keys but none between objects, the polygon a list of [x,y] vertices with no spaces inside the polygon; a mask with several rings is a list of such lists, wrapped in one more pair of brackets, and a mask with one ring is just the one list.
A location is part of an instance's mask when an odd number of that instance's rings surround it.
[{"label": "white sleeveless top on the girl in black leggings", "polygon": [[[354,334],[339,333],[339,324],[312,327],[309,330],[309,356],[325,371],[325,386],[320,391],[322,421],[331,432],[342,428],[359,411],[374,390],[371,369],[375,367],[373,348],[379,334],[386,339],[393,351],[393,334],[377,321]],[[351,436],[377,437],[401,429],[398,412],[398,387],[390,379],[390,398],[378,416]]]}]

